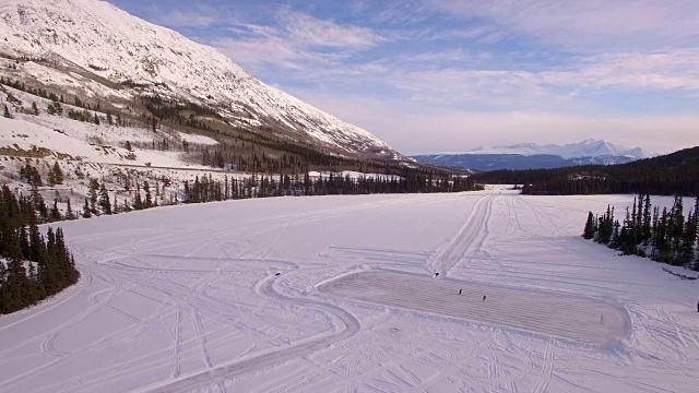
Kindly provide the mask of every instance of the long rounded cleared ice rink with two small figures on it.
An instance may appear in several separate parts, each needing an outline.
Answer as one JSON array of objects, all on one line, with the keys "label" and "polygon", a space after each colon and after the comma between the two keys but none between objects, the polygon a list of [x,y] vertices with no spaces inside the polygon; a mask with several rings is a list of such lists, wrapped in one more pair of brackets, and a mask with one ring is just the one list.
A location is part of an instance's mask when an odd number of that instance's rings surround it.
[{"label": "long rounded cleared ice rink with two small figures on it", "polygon": [[604,301],[399,272],[353,273],[323,283],[318,289],[590,344],[620,341],[629,330],[628,315]]}]

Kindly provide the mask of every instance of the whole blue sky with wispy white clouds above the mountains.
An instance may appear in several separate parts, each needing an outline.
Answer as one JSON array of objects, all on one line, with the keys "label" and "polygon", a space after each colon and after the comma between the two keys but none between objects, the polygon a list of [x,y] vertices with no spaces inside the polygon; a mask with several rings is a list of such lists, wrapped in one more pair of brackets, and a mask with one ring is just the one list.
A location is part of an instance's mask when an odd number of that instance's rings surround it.
[{"label": "whole blue sky with wispy white clouds above the mountains", "polygon": [[699,1],[135,1],[407,154],[699,145]]}]

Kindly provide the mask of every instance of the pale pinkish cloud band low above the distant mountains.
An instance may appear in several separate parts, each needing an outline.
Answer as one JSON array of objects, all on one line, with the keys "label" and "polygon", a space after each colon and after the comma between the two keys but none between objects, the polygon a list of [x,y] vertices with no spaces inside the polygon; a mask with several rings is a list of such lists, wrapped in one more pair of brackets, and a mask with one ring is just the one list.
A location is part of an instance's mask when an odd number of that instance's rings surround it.
[{"label": "pale pinkish cloud band low above the distant mountains", "polygon": [[[405,154],[466,151],[522,142],[572,143],[606,139],[670,153],[699,145],[699,115],[582,116],[546,111],[465,111],[296,90],[301,99],[367,129]],[[672,138],[668,138],[668,133]]]}]

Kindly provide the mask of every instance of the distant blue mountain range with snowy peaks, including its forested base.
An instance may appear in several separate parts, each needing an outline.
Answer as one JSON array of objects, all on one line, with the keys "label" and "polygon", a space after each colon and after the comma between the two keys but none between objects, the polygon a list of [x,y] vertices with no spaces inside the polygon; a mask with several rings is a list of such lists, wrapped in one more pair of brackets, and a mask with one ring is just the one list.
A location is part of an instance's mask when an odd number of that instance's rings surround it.
[{"label": "distant blue mountain range with snowy peaks, including its forested base", "polygon": [[625,164],[648,158],[640,147],[625,147],[604,140],[585,140],[565,145],[520,143],[479,146],[462,153],[415,155],[413,158],[473,170],[547,169],[577,165]]}]

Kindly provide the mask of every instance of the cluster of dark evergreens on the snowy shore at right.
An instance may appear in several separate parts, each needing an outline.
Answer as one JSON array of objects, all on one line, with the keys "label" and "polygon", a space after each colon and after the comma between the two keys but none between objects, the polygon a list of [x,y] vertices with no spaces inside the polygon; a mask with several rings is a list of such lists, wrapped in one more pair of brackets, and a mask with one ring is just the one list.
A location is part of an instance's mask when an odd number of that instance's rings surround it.
[{"label": "cluster of dark evergreens on the snowy shore at right", "polygon": [[626,207],[621,223],[614,217],[614,207],[607,206],[601,216],[590,212],[582,236],[625,255],[699,270],[699,198],[686,216],[684,211],[682,196],[675,196],[671,210],[661,211],[651,204],[649,194],[640,194],[633,199],[631,210]]}]

